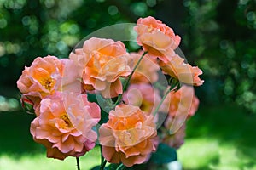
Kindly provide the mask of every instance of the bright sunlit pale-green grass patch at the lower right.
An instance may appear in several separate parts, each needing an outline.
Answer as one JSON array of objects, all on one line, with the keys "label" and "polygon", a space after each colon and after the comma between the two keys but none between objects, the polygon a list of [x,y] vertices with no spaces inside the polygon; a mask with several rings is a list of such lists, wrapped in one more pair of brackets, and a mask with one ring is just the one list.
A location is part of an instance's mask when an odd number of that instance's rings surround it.
[{"label": "bright sunlit pale-green grass patch at the lower right", "polygon": [[[253,149],[253,152],[256,153],[256,150]],[[185,170],[256,169],[255,156],[241,154],[240,148],[233,144],[221,144],[218,139],[186,139],[186,144],[178,150],[178,156]]]}]

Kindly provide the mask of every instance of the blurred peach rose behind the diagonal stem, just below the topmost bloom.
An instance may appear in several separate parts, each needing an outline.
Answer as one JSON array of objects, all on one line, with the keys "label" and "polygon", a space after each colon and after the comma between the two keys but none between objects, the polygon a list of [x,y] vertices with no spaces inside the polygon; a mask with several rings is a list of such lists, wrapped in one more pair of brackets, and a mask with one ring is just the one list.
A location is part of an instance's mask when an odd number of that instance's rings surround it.
[{"label": "blurred peach rose behind the diagonal stem, just below the topmost bloom", "polygon": [[[143,52],[131,53],[131,69],[137,64],[137,61],[141,58]],[[154,83],[158,80],[158,71],[160,71],[159,65],[157,65],[156,59],[149,58],[146,54],[140,64],[137,66],[136,71],[133,73],[130,82],[134,83]]]}]

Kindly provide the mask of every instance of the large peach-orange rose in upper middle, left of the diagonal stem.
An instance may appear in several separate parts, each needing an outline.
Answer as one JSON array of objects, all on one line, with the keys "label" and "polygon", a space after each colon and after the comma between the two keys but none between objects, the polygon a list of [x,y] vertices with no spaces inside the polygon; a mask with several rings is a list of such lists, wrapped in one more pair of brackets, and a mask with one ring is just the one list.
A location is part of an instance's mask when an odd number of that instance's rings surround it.
[{"label": "large peach-orange rose in upper middle, left of the diagonal stem", "polygon": [[92,37],[69,57],[78,66],[85,90],[101,92],[105,98],[123,93],[119,77],[129,76],[131,69],[122,42]]}]

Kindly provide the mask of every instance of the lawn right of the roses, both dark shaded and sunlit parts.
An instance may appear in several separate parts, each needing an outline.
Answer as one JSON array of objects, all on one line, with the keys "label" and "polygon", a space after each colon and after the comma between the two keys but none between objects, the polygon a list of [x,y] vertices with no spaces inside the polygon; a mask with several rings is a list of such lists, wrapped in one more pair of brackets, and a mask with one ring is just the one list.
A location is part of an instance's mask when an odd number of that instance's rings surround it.
[{"label": "lawn right of the roses, both dark shaded and sunlit parts", "polygon": [[178,150],[184,170],[256,170],[256,116],[236,105],[201,108]]}]

